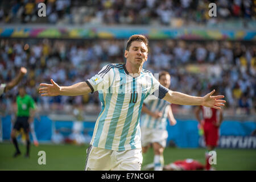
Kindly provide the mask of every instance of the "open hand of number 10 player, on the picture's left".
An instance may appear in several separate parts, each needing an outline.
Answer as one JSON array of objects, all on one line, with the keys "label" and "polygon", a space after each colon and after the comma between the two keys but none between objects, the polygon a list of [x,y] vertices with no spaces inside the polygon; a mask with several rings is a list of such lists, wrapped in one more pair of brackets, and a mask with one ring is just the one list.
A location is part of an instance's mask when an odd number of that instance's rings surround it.
[{"label": "open hand of number 10 player, on the picture's left", "polygon": [[59,96],[61,88],[59,85],[57,85],[52,79],[52,84],[40,84],[40,86],[43,86],[42,88],[39,88],[39,93],[41,96]]}]

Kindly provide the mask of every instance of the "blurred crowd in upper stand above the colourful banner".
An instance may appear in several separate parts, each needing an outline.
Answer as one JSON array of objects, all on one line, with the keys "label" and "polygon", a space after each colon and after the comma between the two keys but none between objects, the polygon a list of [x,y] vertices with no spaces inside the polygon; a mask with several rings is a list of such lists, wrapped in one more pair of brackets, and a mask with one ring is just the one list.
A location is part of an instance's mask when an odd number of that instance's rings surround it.
[{"label": "blurred crowd in upper stand above the colourful banner", "polygon": [[[46,17],[38,16],[38,4],[46,3]],[[210,19],[209,3],[218,16]],[[12,0],[0,2],[0,23],[52,24],[162,24],[198,26],[227,19],[255,20],[255,1],[222,0]]]}]

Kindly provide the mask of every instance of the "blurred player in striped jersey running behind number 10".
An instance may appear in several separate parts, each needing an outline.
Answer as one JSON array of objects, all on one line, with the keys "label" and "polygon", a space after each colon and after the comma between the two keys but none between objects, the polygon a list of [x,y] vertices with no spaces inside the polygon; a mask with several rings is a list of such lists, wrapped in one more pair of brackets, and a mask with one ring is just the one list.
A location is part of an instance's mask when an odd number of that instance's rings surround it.
[{"label": "blurred player in striped jersey running behind number 10", "polygon": [[[166,88],[170,87],[171,76],[168,72],[159,73],[159,82]],[[164,166],[163,151],[166,147],[168,132],[166,130],[167,118],[170,125],[176,124],[176,119],[172,114],[169,102],[165,100],[145,100],[142,106],[143,114],[141,117],[141,143],[142,153],[146,153],[150,144],[154,148],[154,170],[162,171]]]}]

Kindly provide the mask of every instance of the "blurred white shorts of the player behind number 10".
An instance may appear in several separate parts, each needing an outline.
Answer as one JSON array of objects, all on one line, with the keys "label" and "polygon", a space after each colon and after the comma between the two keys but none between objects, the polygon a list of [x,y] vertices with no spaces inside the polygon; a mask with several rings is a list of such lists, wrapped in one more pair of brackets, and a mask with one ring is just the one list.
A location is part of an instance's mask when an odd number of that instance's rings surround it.
[{"label": "blurred white shorts of the player behind number 10", "polygon": [[142,147],[148,146],[150,143],[157,142],[162,147],[166,147],[166,140],[168,138],[168,132],[166,130],[147,129],[141,128],[141,145]]}]

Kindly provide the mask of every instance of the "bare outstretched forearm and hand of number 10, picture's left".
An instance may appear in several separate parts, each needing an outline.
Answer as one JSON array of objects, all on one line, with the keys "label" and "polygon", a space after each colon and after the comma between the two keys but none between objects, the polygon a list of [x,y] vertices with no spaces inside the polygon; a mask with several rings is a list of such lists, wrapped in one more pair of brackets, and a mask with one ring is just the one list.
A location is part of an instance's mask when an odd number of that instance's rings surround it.
[{"label": "bare outstretched forearm and hand of number 10, picture's left", "polygon": [[86,82],[79,82],[71,86],[59,86],[52,79],[52,84],[40,84],[39,88],[41,96],[80,96],[92,92]]}]

